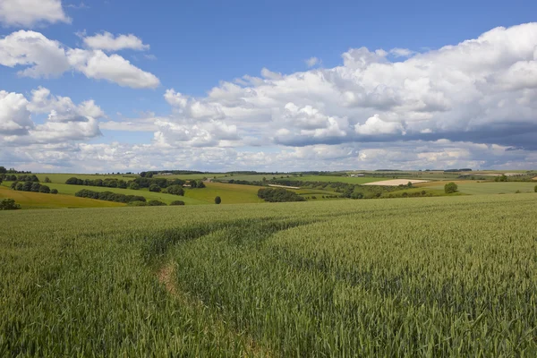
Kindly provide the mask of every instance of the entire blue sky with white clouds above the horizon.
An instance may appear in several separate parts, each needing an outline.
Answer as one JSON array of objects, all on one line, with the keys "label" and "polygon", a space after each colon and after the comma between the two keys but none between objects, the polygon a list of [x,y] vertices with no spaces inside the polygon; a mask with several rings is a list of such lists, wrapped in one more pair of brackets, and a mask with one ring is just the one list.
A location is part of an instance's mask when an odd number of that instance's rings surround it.
[{"label": "entire blue sky with white clouds above the horizon", "polygon": [[0,0],[0,166],[535,169],[535,13],[534,1]]}]

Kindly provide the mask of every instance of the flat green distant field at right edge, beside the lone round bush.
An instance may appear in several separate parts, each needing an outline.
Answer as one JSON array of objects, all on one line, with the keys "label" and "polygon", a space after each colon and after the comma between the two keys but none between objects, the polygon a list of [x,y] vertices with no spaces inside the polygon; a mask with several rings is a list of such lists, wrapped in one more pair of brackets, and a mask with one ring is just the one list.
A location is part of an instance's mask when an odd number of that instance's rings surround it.
[{"label": "flat green distant field at right edge, beside the lone round bush", "polygon": [[[448,183],[448,182],[446,182]],[[442,190],[444,189],[445,183],[442,183],[439,185],[438,183],[435,183],[436,185],[427,186],[430,189],[438,189]],[[482,194],[508,194],[508,193],[514,193],[516,191],[520,192],[533,192],[535,188],[535,183],[527,183],[527,182],[504,182],[504,183],[496,183],[496,182],[486,182],[486,183],[477,183],[477,182],[464,182],[459,181],[456,182],[458,185],[458,191],[465,193],[465,194],[471,194],[471,195],[482,195]]]}]

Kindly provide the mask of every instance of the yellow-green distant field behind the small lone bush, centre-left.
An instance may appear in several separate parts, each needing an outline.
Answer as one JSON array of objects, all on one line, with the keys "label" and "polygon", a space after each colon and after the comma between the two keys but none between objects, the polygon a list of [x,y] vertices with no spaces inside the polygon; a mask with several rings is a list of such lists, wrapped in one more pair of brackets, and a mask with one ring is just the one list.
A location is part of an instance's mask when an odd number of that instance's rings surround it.
[{"label": "yellow-green distant field behind the small lone bush, centre-left", "polygon": [[201,200],[205,203],[214,204],[215,197],[222,199],[222,204],[245,204],[264,202],[257,196],[260,186],[228,184],[228,183],[205,183],[203,189],[188,189],[184,195],[188,199]]}]

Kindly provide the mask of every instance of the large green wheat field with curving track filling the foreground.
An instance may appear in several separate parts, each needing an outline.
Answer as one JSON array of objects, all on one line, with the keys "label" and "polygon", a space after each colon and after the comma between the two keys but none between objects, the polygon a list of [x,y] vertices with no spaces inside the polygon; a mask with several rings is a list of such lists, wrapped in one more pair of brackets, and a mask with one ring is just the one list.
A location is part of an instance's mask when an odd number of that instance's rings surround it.
[{"label": "large green wheat field with curving track filling the foreground", "polygon": [[0,211],[0,356],[536,356],[536,210],[528,193]]}]

